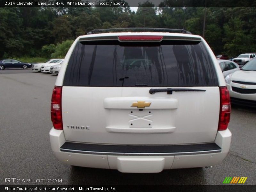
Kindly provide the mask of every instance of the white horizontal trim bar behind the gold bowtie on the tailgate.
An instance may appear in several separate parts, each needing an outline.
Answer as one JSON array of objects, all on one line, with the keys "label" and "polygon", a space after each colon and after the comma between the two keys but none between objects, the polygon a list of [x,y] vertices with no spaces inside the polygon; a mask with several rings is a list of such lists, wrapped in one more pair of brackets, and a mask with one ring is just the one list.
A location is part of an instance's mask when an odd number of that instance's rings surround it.
[{"label": "white horizontal trim bar behind the gold bowtie on the tailgate", "polygon": [[[154,97],[112,97],[104,99],[104,108],[106,109],[136,109],[132,107],[132,102],[146,101],[151,102],[150,109],[176,109],[178,100],[172,98],[154,98]],[[145,107],[147,109],[149,107]]]}]

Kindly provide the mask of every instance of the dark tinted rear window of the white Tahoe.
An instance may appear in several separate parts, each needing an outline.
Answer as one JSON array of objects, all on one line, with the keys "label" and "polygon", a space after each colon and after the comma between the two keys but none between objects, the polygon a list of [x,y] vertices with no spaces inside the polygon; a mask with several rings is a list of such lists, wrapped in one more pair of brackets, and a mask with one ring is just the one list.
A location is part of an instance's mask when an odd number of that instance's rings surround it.
[{"label": "dark tinted rear window of the white Tahoe", "polygon": [[78,42],[64,86],[217,86],[212,60],[202,42]]}]

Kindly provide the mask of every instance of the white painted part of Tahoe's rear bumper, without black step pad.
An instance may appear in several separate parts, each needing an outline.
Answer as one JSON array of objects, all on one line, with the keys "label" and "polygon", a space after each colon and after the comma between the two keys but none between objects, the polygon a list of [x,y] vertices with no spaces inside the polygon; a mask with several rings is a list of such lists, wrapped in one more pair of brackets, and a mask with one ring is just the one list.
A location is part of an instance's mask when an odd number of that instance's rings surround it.
[{"label": "white painted part of Tahoe's rear bumper, without black step pad", "polygon": [[63,131],[55,130],[53,128],[50,131],[50,142],[55,156],[65,164],[104,169],[118,169],[122,172],[159,172],[161,169],[203,167],[220,163],[227,156],[231,142],[231,133],[228,129],[225,131],[218,131],[215,143],[222,148],[221,153],[175,157],[106,156],[60,152],[60,146],[65,142]]}]

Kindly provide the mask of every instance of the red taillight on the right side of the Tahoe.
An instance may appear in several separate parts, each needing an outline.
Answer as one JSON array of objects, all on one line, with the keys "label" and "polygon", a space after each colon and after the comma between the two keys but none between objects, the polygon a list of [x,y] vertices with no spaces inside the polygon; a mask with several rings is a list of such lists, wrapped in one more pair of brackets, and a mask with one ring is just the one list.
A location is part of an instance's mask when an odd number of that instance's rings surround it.
[{"label": "red taillight on the right side of the Tahoe", "polygon": [[227,87],[220,87],[220,119],[218,131],[228,128],[230,120],[230,97]]}]

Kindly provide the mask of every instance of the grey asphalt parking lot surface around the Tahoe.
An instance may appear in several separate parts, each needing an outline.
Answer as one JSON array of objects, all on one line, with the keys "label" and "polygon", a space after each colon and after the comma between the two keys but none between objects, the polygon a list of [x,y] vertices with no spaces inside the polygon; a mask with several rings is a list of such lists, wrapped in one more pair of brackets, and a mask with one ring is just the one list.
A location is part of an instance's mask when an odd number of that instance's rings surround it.
[{"label": "grey asphalt parking lot surface around the Tahoe", "polygon": [[256,109],[232,106],[228,156],[208,168],[165,170],[134,174],[116,170],[73,168],[52,153],[50,103],[55,75],[31,69],[0,71],[0,185],[5,178],[61,179],[42,185],[222,185],[226,177],[248,177],[243,185],[256,185]]}]

